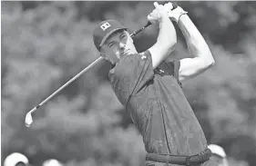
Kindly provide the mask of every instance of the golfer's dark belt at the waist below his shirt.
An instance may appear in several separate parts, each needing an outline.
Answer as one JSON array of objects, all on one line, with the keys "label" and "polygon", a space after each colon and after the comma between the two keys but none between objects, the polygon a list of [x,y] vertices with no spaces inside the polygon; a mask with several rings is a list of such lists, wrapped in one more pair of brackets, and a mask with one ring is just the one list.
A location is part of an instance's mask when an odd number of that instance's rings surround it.
[{"label": "golfer's dark belt at the waist below his shirt", "polygon": [[210,156],[210,149],[206,149],[205,151],[201,151],[200,153],[192,156],[148,153],[146,156],[146,161],[167,162],[172,164],[190,166],[198,165],[205,161],[209,161]]}]

